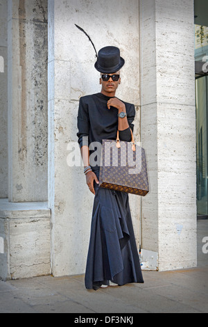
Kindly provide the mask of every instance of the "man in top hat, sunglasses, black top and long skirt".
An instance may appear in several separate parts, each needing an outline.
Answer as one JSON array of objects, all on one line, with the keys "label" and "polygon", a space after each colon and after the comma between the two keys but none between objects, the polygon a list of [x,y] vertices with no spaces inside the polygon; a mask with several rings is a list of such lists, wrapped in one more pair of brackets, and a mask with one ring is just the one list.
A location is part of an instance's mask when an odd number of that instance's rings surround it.
[{"label": "man in top hat, sunglasses, black top and long skirt", "polygon": [[117,47],[101,49],[95,64],[96,70],[101,72],[101,93],[81,97],[78,109],[78,143],[87,186],[95,196],[85,271],[87,289],[96,290],[112,283],[144,282],[128,193],[99,187],[99,163],[94,166],[90,163],[94,152],[90,150],[92,142],[115,140],[118,129],[121,141],[131,141],[135,106],[115,96],[124,63]]}]

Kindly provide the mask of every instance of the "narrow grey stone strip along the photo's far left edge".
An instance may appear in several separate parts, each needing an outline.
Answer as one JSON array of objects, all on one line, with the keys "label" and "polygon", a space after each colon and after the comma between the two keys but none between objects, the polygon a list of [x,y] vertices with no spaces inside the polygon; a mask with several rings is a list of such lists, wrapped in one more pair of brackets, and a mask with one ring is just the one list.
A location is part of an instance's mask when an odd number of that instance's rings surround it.
[{"label": "narrow grey stone strip along the photo's far left edge", "polygon": [[0,3],[0,198],[8,197],[7,3]]}]

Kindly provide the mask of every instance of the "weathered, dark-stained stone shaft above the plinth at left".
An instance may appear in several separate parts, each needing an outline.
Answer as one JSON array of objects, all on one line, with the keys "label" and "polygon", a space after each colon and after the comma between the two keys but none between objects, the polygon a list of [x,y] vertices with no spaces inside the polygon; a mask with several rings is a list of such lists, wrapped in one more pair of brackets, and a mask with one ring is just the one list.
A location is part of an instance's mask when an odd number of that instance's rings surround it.
[{"label": "weathered, dark-stained stone shaft above the plinth at left", "polygon": [[8,1],[9,200],[47,200],[47,1]]}]

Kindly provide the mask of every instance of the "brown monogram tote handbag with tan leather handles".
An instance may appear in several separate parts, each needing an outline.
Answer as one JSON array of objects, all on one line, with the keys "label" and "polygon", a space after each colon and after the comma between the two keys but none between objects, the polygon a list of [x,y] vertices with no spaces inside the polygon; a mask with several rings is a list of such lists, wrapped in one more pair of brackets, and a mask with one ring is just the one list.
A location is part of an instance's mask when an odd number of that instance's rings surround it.
[{"label": "brown monogram tote handbag with tan leather handles", "polygon": [[[131,129],[130,129],[131,130]],[[103,140],[99,186],[146,196],[149,192],[145,150],[132,141]]]}]

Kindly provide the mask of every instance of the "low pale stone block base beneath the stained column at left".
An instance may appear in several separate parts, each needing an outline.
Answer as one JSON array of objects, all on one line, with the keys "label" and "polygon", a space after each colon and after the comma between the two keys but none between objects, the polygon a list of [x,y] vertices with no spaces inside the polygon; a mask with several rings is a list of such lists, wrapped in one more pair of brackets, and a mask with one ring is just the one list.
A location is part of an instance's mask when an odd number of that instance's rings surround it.
[{"label": "low pale stone block base beneath the stained column at left", "polygon": [[51,272],[51,210],[47,202],[0,199],[0,278],[19,279]]}]

